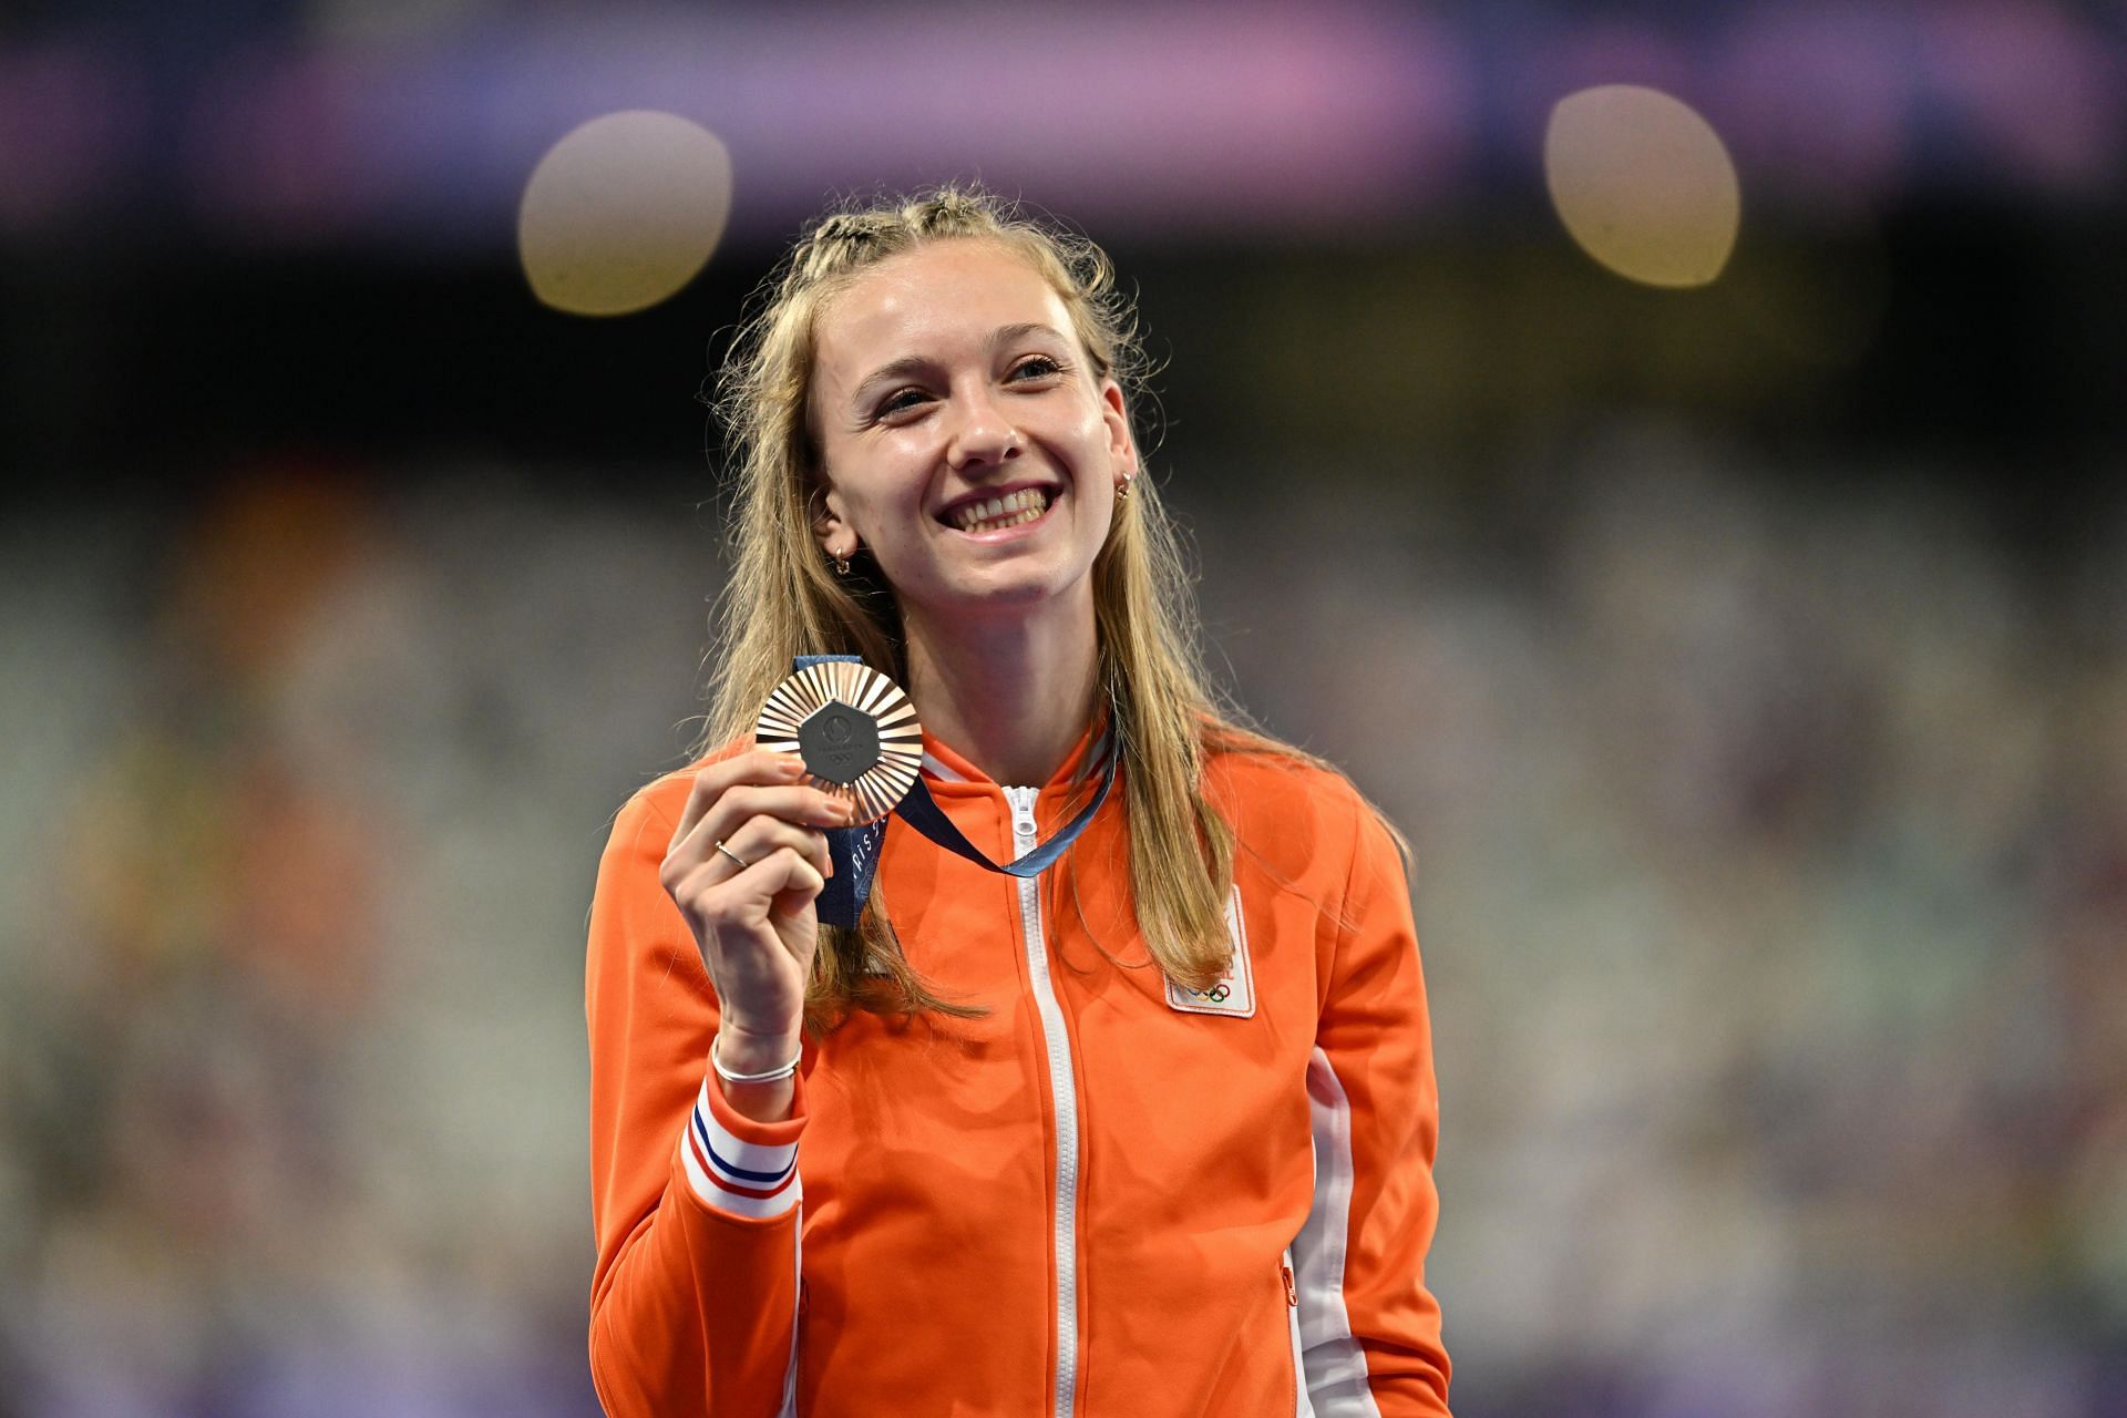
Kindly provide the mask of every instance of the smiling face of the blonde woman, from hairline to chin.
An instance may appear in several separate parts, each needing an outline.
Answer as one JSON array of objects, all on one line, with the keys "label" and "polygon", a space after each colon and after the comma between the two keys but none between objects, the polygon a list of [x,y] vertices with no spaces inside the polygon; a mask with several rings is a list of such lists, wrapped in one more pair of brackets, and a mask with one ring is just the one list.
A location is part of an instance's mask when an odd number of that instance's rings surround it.
[{"label": "smiling face of the blonde woman, from hairline to chin", "polygon": [[934,240],[866,268],[819,313],[808,415],[815,538],[870,548],[904,617],[1059,597],[1091,614],[1115,485],[1138,468],[1129,417],[1010,247]]}]

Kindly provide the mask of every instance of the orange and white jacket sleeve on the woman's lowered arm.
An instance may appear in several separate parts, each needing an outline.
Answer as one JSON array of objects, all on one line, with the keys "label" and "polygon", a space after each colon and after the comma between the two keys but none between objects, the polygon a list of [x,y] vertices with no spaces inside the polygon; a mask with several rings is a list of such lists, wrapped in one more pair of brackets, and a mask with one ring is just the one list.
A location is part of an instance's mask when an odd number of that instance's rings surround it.
[{"label": "orange and white jacket sleeve on the woman's lowered arm", "polygon": [[1404,863],[1363,801],[1308,1063],[1314,1205],[1293,1242],[1302,1365],[1321,1418],[1448,1412],[1425,1250],[1440,1214],[1425,978]]}]

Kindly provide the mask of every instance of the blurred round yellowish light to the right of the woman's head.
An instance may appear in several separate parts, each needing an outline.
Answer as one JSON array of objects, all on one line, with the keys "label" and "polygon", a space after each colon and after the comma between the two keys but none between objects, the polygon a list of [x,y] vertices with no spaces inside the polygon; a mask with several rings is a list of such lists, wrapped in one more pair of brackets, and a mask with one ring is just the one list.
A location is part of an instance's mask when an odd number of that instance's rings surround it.
[{"label": "blurred round yellowish light to the right of the woman's head", "polygon": [[1629,281],[1714,281],[1742,223],[1736,164],[1712,125],[1657,89],[1608,83],[1557,102],[1544,183],[1580,249]]}]

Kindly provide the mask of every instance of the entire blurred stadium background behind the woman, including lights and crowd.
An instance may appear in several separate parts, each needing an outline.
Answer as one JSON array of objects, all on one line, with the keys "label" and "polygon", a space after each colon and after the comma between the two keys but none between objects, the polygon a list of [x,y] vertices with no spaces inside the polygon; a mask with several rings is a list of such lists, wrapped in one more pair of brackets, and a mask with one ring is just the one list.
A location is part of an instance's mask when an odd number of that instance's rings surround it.
[{"label": "entire blurred stadium background behind the woman, including lights and crowd", "polygon": [[0,1418],[596,1412],[696,393],[951,176],[1417,844],[1457,1414],[2127,1412],[2123,151],[2097,0],[13,0]]}]

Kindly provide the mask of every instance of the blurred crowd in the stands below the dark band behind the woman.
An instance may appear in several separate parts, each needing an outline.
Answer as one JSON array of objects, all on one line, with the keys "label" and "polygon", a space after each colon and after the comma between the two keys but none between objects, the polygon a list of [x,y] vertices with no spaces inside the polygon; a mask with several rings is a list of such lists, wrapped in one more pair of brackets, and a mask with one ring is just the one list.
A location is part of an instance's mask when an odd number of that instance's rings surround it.
[{"label": "blurred crowd in the stands below the dark band behind the woman", "polygon": [[[1417,848],[1463,1418],[2127,1412],[2127,500],[1155,472]],[[583,487],[0,527],[0,1418],[596,1414],[583,923],[721,563]]]}]

